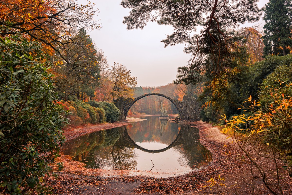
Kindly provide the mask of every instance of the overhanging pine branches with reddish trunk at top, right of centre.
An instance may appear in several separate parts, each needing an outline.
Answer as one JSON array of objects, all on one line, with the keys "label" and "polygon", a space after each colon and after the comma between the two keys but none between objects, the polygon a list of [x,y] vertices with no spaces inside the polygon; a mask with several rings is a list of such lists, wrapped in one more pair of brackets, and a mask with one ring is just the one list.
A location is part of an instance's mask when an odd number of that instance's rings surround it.
[{"label": "overhanging pine branches with reddish trunk at top, right of centre", "polygon": [[[189,65],[178,69],[178,82],[197,83],[210,70],[212,77],[229,67],[227,57],[237,57],[234,32],[238,23],[257,21],[261,11],[257,0],[124,0],[130,8],[124,17],[128,29],[143,28],[147,22],[170,25],[173,33],[162,40],[165,46],[185,44],[185,52],[192,54]],[[202,30],[199,30],[202,27]],[[196,33],[199,31],[199,33]],[[235,55],[235,56],[234,56]],[[209,65],[208,67],[206,67]]]}]

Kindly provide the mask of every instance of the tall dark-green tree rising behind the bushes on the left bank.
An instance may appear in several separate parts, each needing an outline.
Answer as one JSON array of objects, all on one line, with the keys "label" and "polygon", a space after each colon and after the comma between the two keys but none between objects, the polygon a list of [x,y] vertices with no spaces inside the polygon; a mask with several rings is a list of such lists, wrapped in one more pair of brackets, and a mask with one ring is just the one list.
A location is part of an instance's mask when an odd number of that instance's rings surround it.
[{"label": "tall dark-green tree rising behind the bushes on the left bank", "polygon": [[66,61],[57,55],[55,86],[63,99],[76,95],[85,101],[86,97],[91,99],[99,87],[100,70],[106,67],[107,61],[103,51],[95,47],[83,28],[78,34],[72,35],[72,40],[66,49],[60,50],[62,56],[66,56]]}]

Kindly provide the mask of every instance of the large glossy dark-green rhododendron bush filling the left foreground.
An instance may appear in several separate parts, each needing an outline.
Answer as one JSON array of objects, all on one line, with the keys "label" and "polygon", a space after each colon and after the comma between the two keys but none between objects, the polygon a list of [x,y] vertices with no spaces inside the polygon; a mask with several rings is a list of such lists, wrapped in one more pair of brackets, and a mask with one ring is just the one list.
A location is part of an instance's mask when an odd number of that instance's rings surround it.
[{"label": "large glossy dark-green rhododendron bush filling the left foreground", "polygon": [[[36,42],[0,40],[0,193],[50,194],[44,176],[68,124]],[[32,54],[32,55],[29,55]]]}]

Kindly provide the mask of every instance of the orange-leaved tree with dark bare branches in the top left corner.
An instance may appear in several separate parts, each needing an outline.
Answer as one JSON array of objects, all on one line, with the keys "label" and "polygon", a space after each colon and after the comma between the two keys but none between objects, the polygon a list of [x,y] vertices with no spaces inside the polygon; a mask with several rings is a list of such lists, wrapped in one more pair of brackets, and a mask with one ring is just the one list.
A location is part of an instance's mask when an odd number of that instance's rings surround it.
[{"label": "orange-leaved tree with dark bare branches in the top left corner", "polygon": [[[93,16],[94,4],[78,4],[72,0],[2,0],[0,1],[0,36],[21,33],[57,51],[74,42],[72,34],[79,27],[99,28]],[[49,49],[50,50],[50,49]],[[53,55],[53,53],[51,54]],[[64,60],[69,61],[64,57]]]}]

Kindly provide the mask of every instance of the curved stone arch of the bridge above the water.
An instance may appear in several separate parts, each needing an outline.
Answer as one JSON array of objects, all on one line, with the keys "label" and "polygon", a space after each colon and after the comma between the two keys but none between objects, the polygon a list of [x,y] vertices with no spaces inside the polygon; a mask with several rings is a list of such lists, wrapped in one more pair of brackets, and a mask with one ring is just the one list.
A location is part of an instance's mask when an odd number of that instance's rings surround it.
[{"label": "curved stone arch of the bridge above the water", "polygon": [[178,109],[178,112],[180,113],[180,115],[182,115],[182,113],[183,113],[183,111],[182,111],[183,110],[183,105],[182,105],[182,102],[181,101],[172,99],[171,97],[169,97],[167,95],[164,95],[164,94],[160,94],[160,93],[149,93],[149,94],[144,94],[142,96],[136,97],[132,101],[124,102],[124,115],[125,115],[125,119],[127,118],[128,111],[133,106],[133,104],[136,101],[138,101],[139,99],[142,99],[142,98],[144,98],[146,96],[162,96],[162,97],[165,97],[166,99],[168,99],[169,101],[171,101],[175,105],[175,107],[176,107],[176,109]]}]

